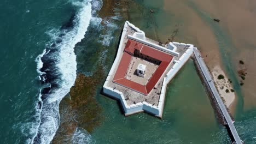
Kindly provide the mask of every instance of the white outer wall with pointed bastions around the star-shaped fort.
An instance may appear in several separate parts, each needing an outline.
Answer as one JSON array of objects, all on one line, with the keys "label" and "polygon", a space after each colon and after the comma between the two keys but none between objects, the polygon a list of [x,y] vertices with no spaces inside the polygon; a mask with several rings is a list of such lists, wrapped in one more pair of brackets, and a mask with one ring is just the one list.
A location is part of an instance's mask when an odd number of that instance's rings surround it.
[{"label": "white outer wall with pointed bastions around the star-shaped fort", "polygon": [[[110,97],[113,97],[115,99],[120,100],[121,106],[123,107],[123,110],[125,112],[125,115],[131,115],[133,113],[137,113],[137,112],[142,112],[142,111],[146,111],[148,113],[151,113],[155,116],[158,117],[162,117],[162,110],[164,108],[164,101],[165,101],[165,94],[166,94],[166,86],[167,83],[171,81],[171,79],[174,77],[174,75],[177,74],[177,72],[179,71],[179,69],[182,68],[182,66],[185,64],[185,62],[188,61],[189,57],[191,56],[191,54],[193,53],[193,45],[186,45],[186,44],[179,44],[179,43],[170,43],[171,46],[177,46],[177,45],[184,45],[184,46],[188,46],[188,50],[178,59],[178,61],[176,61],[176,63],[173,65],[173,67],[171,68],[170,71],[168,71],[167,75],[164,77],[164,81],[162,83],[162,89],[161,89],[161,94],[160,94],[160,98],[159,98],[159,104],[158,106],[153,106],[152,104],[148,104],[146,101],[143,101],[142,103],[137,103],[137,104],[132,104],[132,105],[127,105],[126,100],[124,98],[124,95],[122,92],[118,91],[117,89],[108,87],[108,83],[112,82],[109,81],[111,76],[114,76],[114,69],[118,67],[118,64],[120,62],[122,53],[123,53],[123,42],[124,42],[124,38],[125,35],[127,33],[127,26],[131,27],[133,30],[135,30],[137,32],[136,35],[139,35],[139,37],[143,38],[143,34],[144,32],[141,31],[139,28],[135,27],[134,25],[132,25],[130,22],[126,21],[125,25],[124,25],[124,29],[123,29],[123,33],[121,35],[121,39],[120,39],[120,44],[118,47],[118,53],[117,53],[117,57],[115,58],[115,61],[112,65],[112,68],[109,71],[109,74],[107,76],[107,80],[104,83],[103,86],[103,93],[109,95]],[[141,33],[141,34],[138,34]],[[150,45],[155,47],[156,49],[160,49],[162,51],[168,52],[168,53],[172,53],[173,55],[179,56],[179,53],[166,49],[165,47],[161,47],[158,46],[156,44],[150,43],[149,41],[145,41],[142,39],[138,39],[136,37],[132,37],[131,35],[129,35],[129,38],[134,39],[136,41],[139,41],[141,43]],[[146,37],[145,37],[146,38]],[[175,50],[175,49],[174,49]]]}]

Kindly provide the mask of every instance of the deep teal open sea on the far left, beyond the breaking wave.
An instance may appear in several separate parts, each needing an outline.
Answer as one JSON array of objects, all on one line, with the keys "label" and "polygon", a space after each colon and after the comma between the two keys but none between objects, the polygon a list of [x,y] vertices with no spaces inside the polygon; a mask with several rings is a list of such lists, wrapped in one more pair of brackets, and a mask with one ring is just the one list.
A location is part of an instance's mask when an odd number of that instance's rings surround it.
[{"label": "deep teal open sea on the far left, beyond the breaking wave", "polygon": [[32,143],[36,136],[42,88],[36,58],[51,43],[52,30],[77,12],[72,2],[0,2],[0,143]]}]

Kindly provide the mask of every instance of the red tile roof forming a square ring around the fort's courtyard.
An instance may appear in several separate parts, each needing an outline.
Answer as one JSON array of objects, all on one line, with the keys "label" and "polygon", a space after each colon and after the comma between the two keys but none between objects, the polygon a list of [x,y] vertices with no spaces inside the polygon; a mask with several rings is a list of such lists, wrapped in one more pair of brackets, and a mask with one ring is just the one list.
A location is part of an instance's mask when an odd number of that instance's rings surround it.
[{"label": "red tile roof forming a square ring around the fort's courtyard", "polygon": [[[139,50],[141,53],[143,53],[146,56],[153,57],[161,61],[161,64],[159,65],[158,69],[155,70],[155,73],[153,74],[151,79],[148,81],[146,86],[143,86],[139,83],[125,79],[125,75],[129,67],[129,64],[131,62],[132,54],[135,49]],[[117,72],[115,73],[113,82],[118,83],[119,85],[122,85],[124,87],[133,89],[139,93],[147,95],[155,87],[156,83],[158,82],[158,80],[160,79],[160,77],[168,67],[168,64],[172,61],[172,58],[173,58],[172,55],[168,55],[167,53],[156,50],[153,47],[150,47],[148,45],[139,43],[135,40],[129,39],[125,45],[124,53],[118,65],[118,69],[117,69]]]}]

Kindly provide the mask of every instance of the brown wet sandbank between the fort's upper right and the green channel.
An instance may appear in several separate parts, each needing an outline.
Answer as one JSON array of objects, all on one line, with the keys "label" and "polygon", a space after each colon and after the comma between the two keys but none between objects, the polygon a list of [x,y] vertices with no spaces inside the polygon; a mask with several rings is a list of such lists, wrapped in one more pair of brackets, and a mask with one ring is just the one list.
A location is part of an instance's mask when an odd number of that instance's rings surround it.
[{"label": "brown wet sandbank between the fort's upper right and the green channel", "polygon": [[205,57],[205,62],[210,69],[214,68],[215,65],[220,65],[218,43],[207,23],[184,1],[166,0],[164,9],[167,13],[175,14],[175,17],[182,17],[183,24],[179,28],[180,34],[173,41],[182,41],[197,46],[202,53],[202,57]]}]

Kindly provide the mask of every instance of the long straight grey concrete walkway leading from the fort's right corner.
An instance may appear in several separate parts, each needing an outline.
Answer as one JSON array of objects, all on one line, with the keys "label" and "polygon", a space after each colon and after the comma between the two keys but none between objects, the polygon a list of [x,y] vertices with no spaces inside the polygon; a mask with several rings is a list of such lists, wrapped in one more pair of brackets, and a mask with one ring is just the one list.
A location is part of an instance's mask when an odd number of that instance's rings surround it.
[{"label": "long straight grey concrete walkway leading from the fort's right corner", "polygon": [[222,99],[219,96],[219,93],[218,93],[218,91],[217,91],[217,89],[214,85],[214,81],[211,78],[210,72],[208,71],[208,68],[206,67],[205,62],[203,61],[199,50],[194,48],[193,52],[194,52],[194,55],[195,55],[195,59],[199,63],[199,66],[202,70],[202,73],[205,76],[205,79],[207,80],[208,85],[210,86],[210,88],[212,90],[212,93],[213,93],[213,95],[214,95],[214,97],[215,97],[215,99],[216,99],[216,101],[217,101],[217,103],[220,107],[220,110],[222,111],[223,116],[225,117],[226,122],[228,123],[228,127],[231,131],[232,136],[234,137],[235,142],[237,144],[242,144],[242,141],[240,140],[240,137],[237,134],[237,131],[236,131],[236,128],[233,124],[233,121],[232,121],[231,117],[229,116],[229,112],[226,110],[226,107],[225,107]]}]

